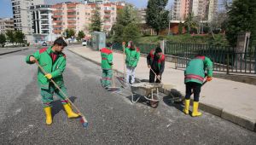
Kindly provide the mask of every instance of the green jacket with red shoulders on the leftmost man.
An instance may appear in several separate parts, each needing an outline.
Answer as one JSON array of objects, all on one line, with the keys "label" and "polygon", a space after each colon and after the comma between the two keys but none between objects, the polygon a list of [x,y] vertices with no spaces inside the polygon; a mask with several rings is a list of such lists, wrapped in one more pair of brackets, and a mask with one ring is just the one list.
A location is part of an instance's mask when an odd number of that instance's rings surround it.
[{"label": "green jacket with red shoulders on the leftmost man", "polygon": [[[46,73],[50,73],[52,75],[52,79],[55,81],[56,84],[59,86],[64,84],[62,73],[66,68],[66,55],[63,53],[58,54],[58,57],[53,64],[53,60],[50,56],[50,53],[53,52],[51,47],[39,49],[32,55],[26,56],[26,63],[32,64],[29,61],[30,56],[34,56],[38,63],[44,68]],[[49,89],[49,79],[44,77],[44,73],[38,67],[38,85],[40,88]]]}]

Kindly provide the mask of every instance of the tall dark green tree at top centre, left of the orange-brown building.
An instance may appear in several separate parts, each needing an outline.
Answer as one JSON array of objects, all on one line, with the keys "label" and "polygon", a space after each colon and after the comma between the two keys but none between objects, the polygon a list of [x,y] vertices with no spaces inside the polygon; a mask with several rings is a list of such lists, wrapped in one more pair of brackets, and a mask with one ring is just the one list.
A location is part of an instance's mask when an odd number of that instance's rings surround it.
[{"label": "tall dark green tree at top centre, left of the orange-brown building", "polygon": [[165,9],[167,2],[168,0],[148,0],[146,23],[154,29],[157,35],[169,24],[169,11]]}]

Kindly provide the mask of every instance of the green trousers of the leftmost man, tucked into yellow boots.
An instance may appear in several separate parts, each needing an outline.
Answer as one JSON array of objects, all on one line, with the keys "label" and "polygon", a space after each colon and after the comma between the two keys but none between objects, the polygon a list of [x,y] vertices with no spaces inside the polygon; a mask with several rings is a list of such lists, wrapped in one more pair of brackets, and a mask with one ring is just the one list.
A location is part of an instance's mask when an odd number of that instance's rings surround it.
[{"label": "green trousers of the leftmost man, tucked into yellow boots", "polygon": [[[61,90],[67,95],[67,88],[65,85],[60,86]],[[49,84],[49,89],[41,89],[42,102],[44,107],[51,107],[51,102],[54,101],[53,95],[58,96],[61,99],[61,103],[67,104],[67,98],[58,90],[54,84]]]}]

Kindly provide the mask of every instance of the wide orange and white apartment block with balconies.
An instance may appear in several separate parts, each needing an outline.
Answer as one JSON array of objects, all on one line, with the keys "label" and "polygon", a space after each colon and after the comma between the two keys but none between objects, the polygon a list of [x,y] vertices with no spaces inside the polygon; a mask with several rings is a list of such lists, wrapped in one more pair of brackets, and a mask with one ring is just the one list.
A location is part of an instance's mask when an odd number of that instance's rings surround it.
[{"label": "wide orange and white apartment block with balconies", "polygon": [[76,33],[84,31],[89,34],[91,16],[96,8],[101,14],[102,31],[110,32],[117,16],[117,9],[123,6],[115,3],[58,3],[53,9],[53,32],[62,34],[66,29],[73,29]]}]

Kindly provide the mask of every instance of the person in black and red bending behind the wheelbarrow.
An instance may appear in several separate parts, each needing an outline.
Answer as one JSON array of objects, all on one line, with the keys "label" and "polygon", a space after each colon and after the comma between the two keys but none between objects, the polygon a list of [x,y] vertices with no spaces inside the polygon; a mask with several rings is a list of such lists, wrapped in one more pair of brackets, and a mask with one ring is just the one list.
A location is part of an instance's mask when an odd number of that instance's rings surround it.
[{"label": "person in black and red bending behind the wheelbarrow", "polygon": [[[150,50],[147,56],[147,62],[148,68],[150,68],[149,83],[160,83],[161,76],[165,70],[165,55],[159,46],[156,49]],[[155,77],[157,77],[156,80],[154,79]]]}]

